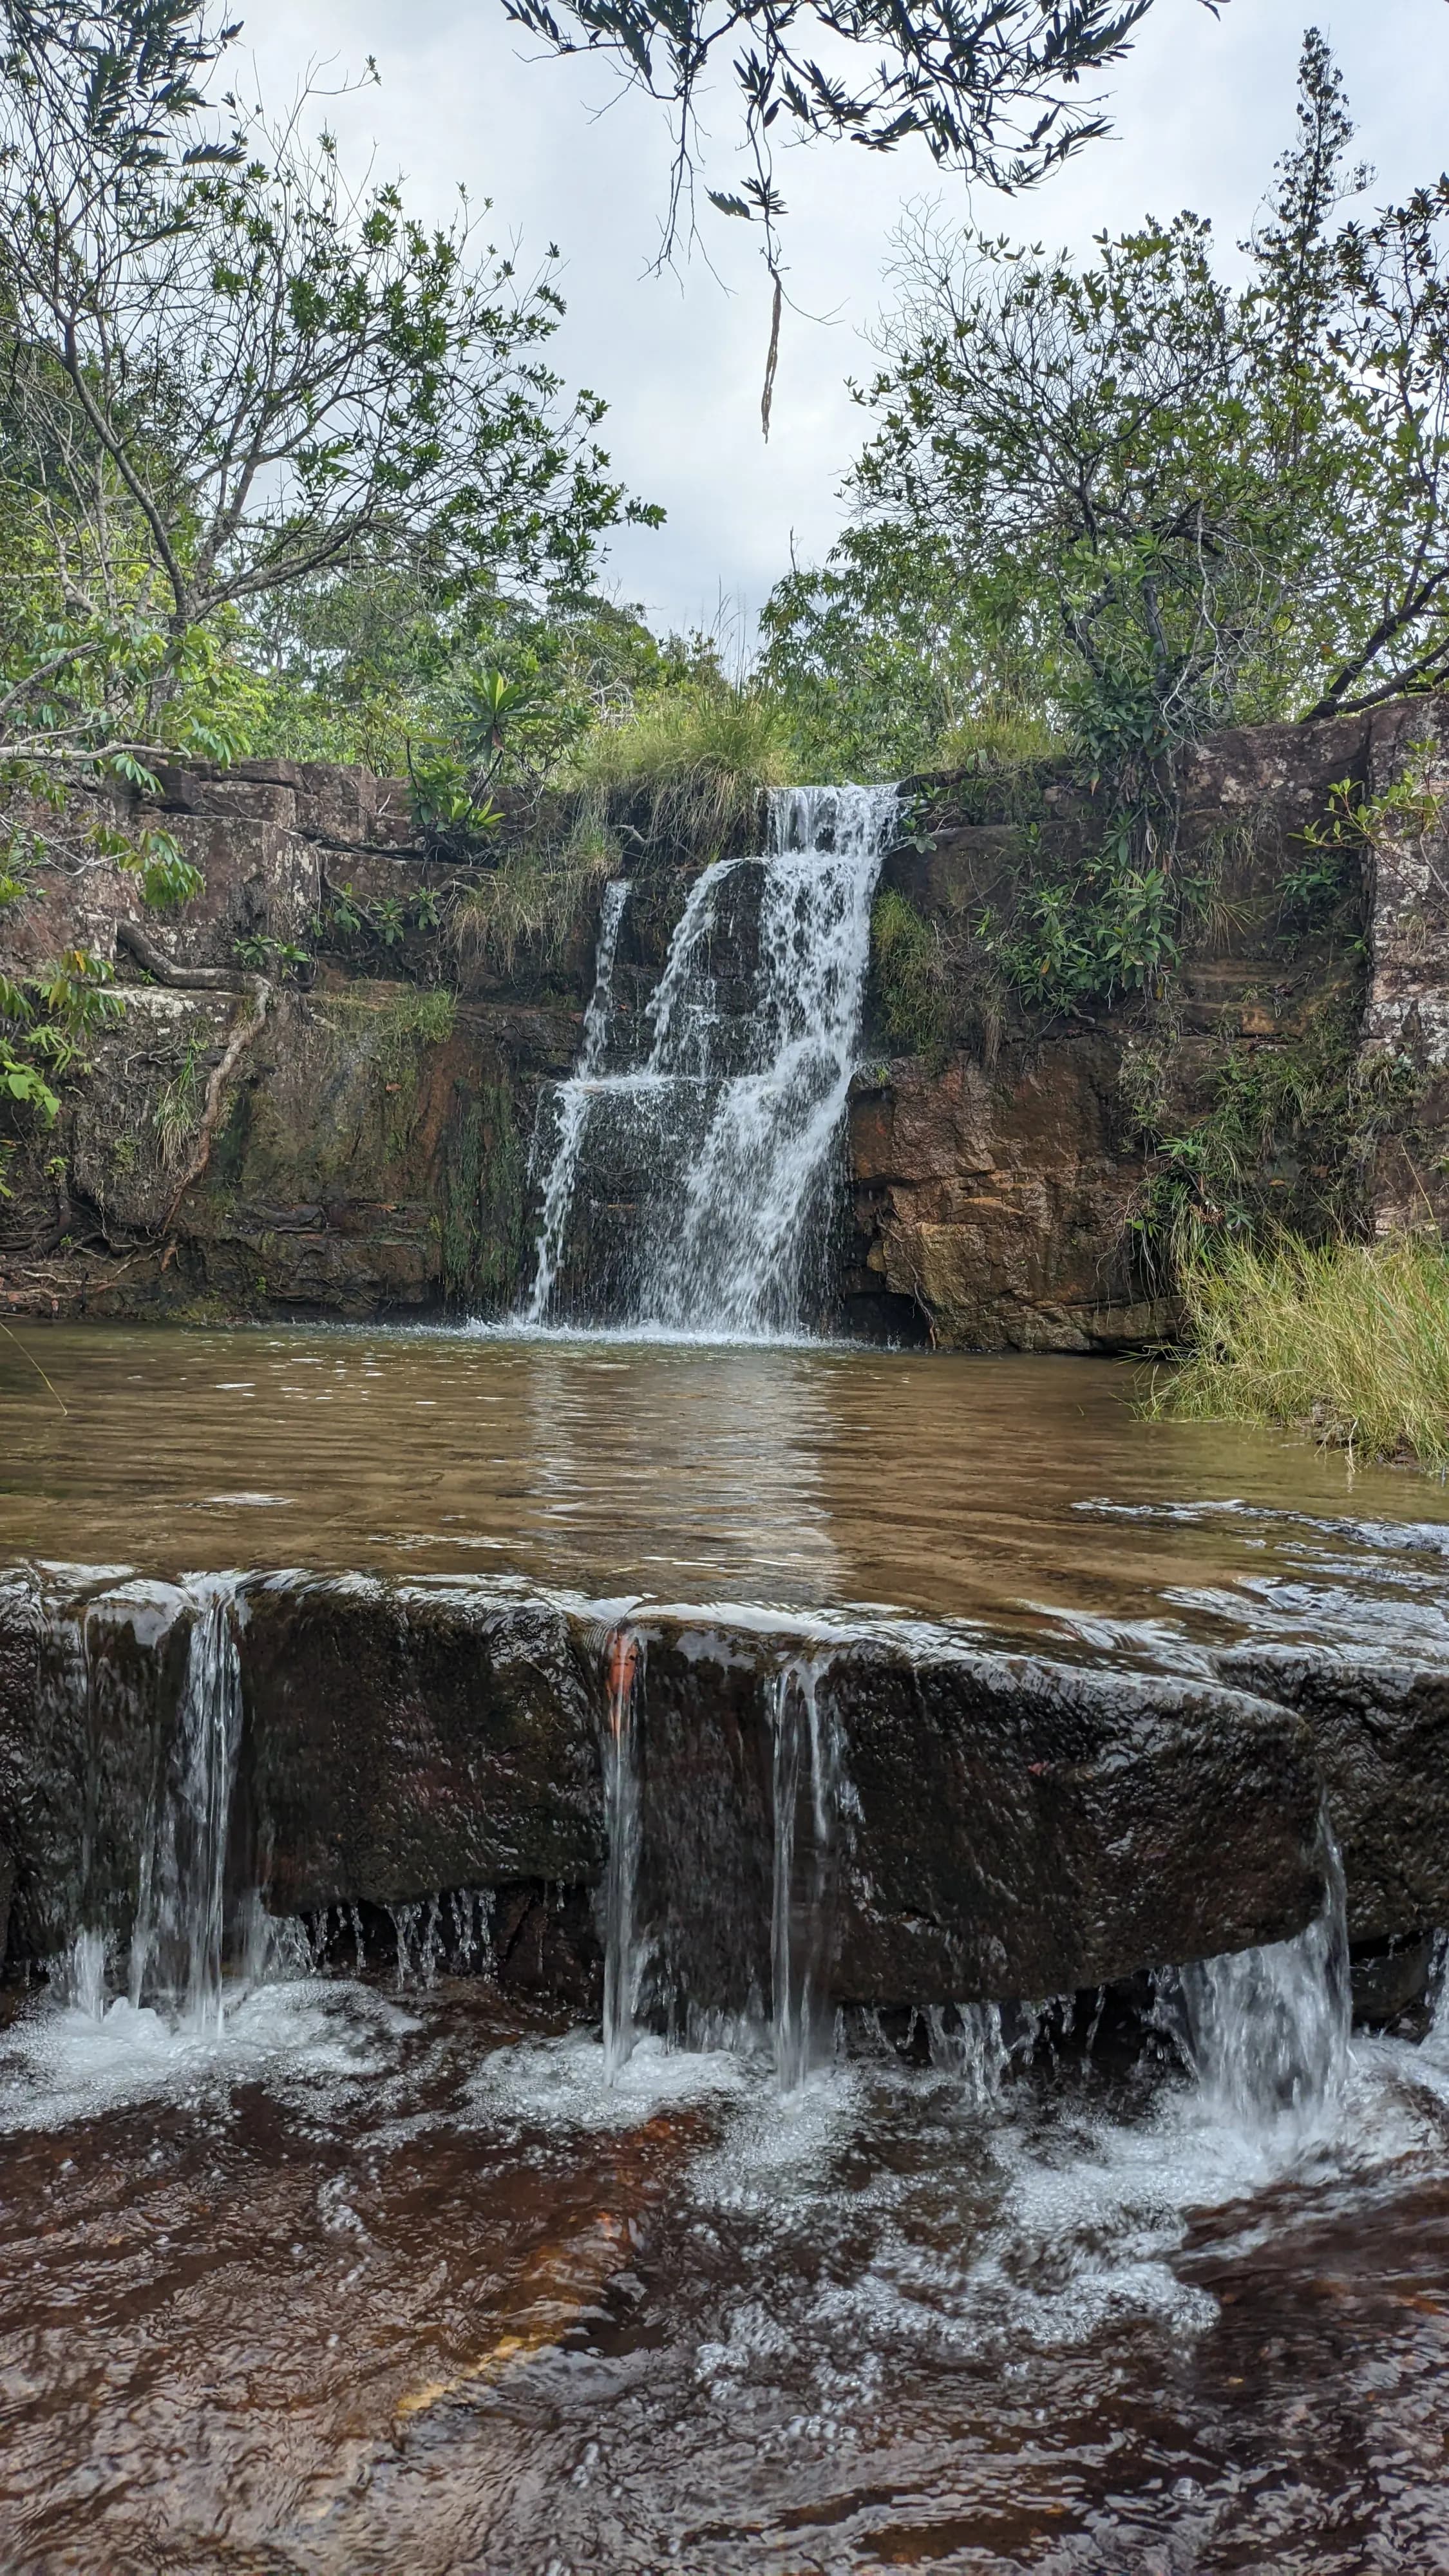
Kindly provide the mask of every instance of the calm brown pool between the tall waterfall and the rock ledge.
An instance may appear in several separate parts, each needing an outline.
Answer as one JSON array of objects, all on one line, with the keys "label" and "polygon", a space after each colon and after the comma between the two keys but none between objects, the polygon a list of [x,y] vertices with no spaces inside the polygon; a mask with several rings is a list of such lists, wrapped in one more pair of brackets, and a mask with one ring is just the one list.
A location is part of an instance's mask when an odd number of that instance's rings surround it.
[{"label": "calm brown pool between the tall waterfall and the rock ledge", "polygon": [[[1449,1636],[1449,1494],[1147,1422],[1101,1360],[428,1332],[0,1337],[0,1558],[505,1574],[871,1605],[1078,1649]],[[44,1378],[41,1378],[44,1370]],[[62,1412],[64,1406],[64,1412]]]}]

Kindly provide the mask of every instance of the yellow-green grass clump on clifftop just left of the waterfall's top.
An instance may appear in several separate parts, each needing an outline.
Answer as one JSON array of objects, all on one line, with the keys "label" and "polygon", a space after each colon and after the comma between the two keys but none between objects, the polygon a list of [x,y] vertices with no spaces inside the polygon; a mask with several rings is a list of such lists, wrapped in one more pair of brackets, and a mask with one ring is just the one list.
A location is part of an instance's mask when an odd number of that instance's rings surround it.
[{"label": "yellow-green grass clump on clifftop just left of the waterfall's top", "polygon": [[766,788],[792,778],[789,716],[761,688],[670,688],[639,698],[624,724],[596,724],[565,786],[645,801],[650,837],[724,848],[745,832]]}]

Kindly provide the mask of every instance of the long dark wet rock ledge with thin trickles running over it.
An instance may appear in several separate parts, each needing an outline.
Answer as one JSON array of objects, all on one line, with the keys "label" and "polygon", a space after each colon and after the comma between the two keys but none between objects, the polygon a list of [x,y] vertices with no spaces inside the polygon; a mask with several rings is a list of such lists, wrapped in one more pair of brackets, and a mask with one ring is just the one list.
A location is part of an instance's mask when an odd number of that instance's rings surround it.
[{"label": "long dark wet rock ledge with thin trickles running over it", "polygon": [[[0,1577],[13,1958],[83,1924],[126,1942],[191,1620],[175,1584]],[[273,1914],[315,1914],[552,1886],[593,1904],[614,1631],[588,1605],[253,1574],[232,1625],[232,1899],[260,1886]],[[828,1999],[933,2004],[1281,1940],[1323,1904],[1315,1721],[1287,1690],[977,1654],[928,1628],[670,1613],[632,1633],[637,1924],[673,2025],[768,2012],[781,1909]]]}]

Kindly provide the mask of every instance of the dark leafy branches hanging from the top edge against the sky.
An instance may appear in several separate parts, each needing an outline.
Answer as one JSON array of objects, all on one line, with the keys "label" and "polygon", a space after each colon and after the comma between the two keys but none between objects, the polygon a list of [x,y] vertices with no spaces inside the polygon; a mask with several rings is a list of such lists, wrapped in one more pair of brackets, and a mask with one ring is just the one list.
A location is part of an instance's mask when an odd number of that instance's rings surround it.
[{"label": "dark leafy branches hanging from the top edge against the sky", "polygon": [[[750,175],[709,188],[722,214],[761,222],[773,265],[784,201],[771,144],[794,139],[895,152],[918,137],[941,167],[1029,188],[1096,134],[1078,88],[1119,62],[1152,0],[503,0],[559,54],[606,54],[670,111],[673,183],[663,258],[694,224],[699,93],[722,54],[735,75]],[[1220,0],[1204,0],[1217,13]]]}]

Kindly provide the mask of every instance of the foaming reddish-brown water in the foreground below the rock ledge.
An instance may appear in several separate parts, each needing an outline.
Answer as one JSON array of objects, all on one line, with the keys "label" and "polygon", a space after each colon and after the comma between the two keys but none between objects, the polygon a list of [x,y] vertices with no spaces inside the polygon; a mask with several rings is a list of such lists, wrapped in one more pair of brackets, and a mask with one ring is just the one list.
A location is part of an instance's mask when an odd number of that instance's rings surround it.
[{"label": "foaming reddish-brown water in the foreground below the rock ledge", "polygon": [[606,2094],[482,1986],[113,2025],[0,2048],[8,2568],[1449,2568],[1449,2035],[1284,2141],[1160,2063]]}]

